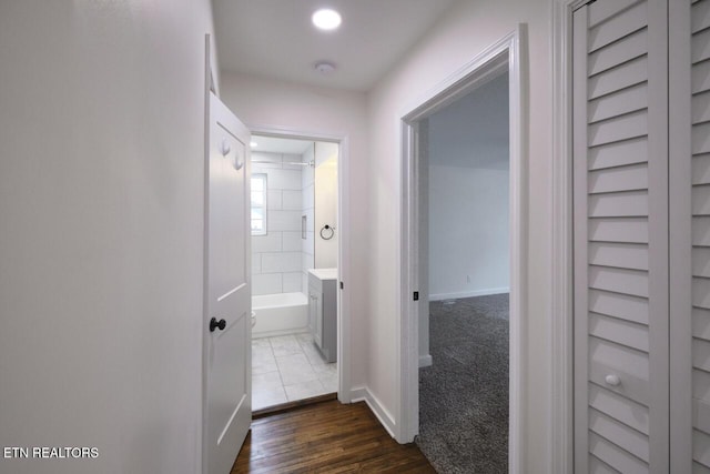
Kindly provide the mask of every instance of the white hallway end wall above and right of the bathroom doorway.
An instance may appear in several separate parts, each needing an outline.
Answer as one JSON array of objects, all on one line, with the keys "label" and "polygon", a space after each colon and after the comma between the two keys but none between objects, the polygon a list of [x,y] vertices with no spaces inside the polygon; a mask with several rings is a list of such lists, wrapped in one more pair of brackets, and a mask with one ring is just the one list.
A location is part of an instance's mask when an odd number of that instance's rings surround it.
[{"label": "white hallway end wall above and right of the bathroom doorway", "polygon": [[[342,299],[351,307],[353,325],[349,334],[352,357],[349,373],[353,387],[366,383],[368,242],[363,239],[371,222],[368,204],[367,153],[369,140],[364,93],[345,92],[291,82],[223,72],[222,98],[248,127],[267,127],[314,135],[346,138],[339,159],[345,170],[347,189],[353,199],[343,204],[349,234],[339,234],[344,259],[338,262],[345,290]],[[346,158],[344,160],[344,158]],[[345,192],[346,190],[341,190]],[[347,195],[347,192],[342,194]],[[393,343],[394,344],[394,343]]]}]

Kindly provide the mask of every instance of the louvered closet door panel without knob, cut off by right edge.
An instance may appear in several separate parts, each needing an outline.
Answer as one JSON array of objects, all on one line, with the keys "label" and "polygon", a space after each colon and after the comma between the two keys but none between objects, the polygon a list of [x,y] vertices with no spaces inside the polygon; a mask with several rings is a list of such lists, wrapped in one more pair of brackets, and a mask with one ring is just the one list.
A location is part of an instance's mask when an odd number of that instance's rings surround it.
[{"label": "louvered closet door panel without knob, cut off by right edge", "polygon": [[[671,128],[674,139],[671,141],[671,168],[678,172],[678,177],[671,174],[671,219],[674,213],[679,214],[673,229],[682,229],[688,216],[691,232],[687,241],[683,241],[684,234],[679,232],[671,250],[671,266],[683,268],[687,272],[674,279],[678,280],[674,283],[679,285],[676,289],[679,293],[671,301],[676,303],[671,305],[671,326],[676,325],[676,317],[679,330],[684,332],[684,314],[690,313],[687,326],[691,337],[688,337],[687,344],[681,341],[681,344],[671,347],[671,361],[684,361],[691,367],[690,406],[686,407],[680,401],[679,407],[683,412],[678,417],[684,424],[683,415],[690,412],[692,427],[677,428],[680,445],[674,451],[678,451],[678,456],[691,456],[688,465],[692,464],[693,473],[710,473],[710,0],[683,0],[678,3],[672,7],[676,14],[670,19],[671,28],[684,30],[686,34],[678,34],[678,43],[671,42],[671,58],[677,56],[674,59],[678,61],[676,64],[671,60],[671,103],[678,102],[676,109],[671,105],[671,117],[679,118],[677,130]],[[690,48],[686,51],[688,40]],[[673,100],[674,95],[678,100]],[[689,118],[688,110],[683,109],[688,97]],[[690,140],[687,139],[686,127]],[[679,184],[677,189],[673,188],[676,182]],[[677,201],[673,204],[674,196]],[[689,249],[688,253],[684,253],[686,249]],[[687,258],[690,262],[687,262]],[[682,380],[671,383],[671,386],[676,385],[682,385]],[[683,395],[679,391],[678,396],[684,400]],[[683,440],[687,433],[690,433],[691,440]],[[692,453],[683,451],[688,444],[692,446]]]}]

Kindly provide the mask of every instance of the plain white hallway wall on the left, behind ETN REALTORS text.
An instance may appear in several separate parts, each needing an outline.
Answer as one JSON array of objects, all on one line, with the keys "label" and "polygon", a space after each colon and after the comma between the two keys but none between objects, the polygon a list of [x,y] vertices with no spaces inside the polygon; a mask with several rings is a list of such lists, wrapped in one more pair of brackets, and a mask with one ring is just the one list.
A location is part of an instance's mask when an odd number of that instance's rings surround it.
[{"label": "plain white hallway wall on the left, behind ETN REALTORS text", "polygon": [[0,445],[200,472],[207,0],[0,2]]}]

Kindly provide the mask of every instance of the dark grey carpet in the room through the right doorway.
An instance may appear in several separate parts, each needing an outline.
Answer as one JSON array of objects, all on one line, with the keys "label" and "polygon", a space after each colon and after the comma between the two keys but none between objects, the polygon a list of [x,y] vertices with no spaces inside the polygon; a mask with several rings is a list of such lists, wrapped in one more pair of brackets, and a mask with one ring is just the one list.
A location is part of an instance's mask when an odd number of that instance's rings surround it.
[{"label": "dark grey carpet in the room through the right doorway", "polygon": [[508,294],[429,309],[416,443],[438,473],[507,473]]}]

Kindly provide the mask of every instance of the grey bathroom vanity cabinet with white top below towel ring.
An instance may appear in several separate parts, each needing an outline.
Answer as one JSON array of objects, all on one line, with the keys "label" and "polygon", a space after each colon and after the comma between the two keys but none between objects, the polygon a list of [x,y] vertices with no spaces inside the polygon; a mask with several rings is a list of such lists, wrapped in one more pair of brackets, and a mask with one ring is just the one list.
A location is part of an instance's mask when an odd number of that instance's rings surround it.
[{"label": "grey bathroom vanity cabinet with white top below towel ring", "polygon": [[308,319],[313,341],[327,362],[337,359],[337,269],[308,270]]}]

